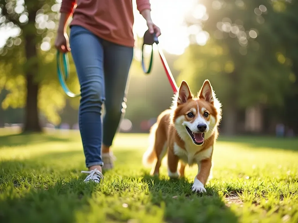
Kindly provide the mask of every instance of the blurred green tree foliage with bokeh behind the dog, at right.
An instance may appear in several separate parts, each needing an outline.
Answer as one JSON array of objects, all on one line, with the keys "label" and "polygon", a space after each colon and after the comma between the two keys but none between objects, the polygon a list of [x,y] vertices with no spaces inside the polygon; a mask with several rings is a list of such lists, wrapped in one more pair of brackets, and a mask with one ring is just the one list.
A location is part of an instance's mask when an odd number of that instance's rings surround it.
[{"label": "blurred green tree foliage with bokeh behind the dog, at right", "polygon": [[197,90],[208,78],[231,125],[237,109],[285,106],[297,83],[297,11],[297,1],[199,1],[186,19],[192,44],[179,79]]}]

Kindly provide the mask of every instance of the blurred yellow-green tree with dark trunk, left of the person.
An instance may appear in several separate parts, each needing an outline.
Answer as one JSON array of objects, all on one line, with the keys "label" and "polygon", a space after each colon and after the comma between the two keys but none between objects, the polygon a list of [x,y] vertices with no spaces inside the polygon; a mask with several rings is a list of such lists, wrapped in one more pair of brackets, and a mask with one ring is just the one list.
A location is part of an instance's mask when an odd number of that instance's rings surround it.
[{"label": "blurred yellow-green tree with dark trunk, left of the person", "polygon": [[[24,131],[41,131],[41,114],[58,124],[66,103],[51,47],[59,8],[55,0],[0,2],[0,28],[13,34],[0,49],[0,91],[8,91],[1,107],[25,107]],[[71,77],[68,84],[78,91],[77,78]]]}]

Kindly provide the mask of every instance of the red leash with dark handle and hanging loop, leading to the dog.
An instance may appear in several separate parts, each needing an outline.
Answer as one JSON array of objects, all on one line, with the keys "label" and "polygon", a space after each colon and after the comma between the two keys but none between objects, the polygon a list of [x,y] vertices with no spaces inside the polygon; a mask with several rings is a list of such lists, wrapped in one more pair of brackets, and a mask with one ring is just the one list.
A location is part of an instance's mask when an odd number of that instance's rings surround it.
[{"label": "red leash with dark handle and hanging loop, leading to the dog", "polygon": [[[142,47],[142,68],[143,68],[144,73],[146,73],[146,74],[149,74],[150,71],[151,71],[152,62],[153,62],[153,44],[154,43],[158,47],[159,41],[158,41],[156,35],[155,34],[150,34],[149,33],[149,30],[147,30],[145,32],[145,34],[144,34],[144,42],[143,42],[143,47]],[[149,64],[149,68],[148,68],[147,71],[146,71],[145,65],[144,65],[144,45],[152,45],[150,64]],[[165,58],[162,50],[159,47],[158,47],[158,52],[159,52],[160,59],[162,61],[162,65],[164,66],[164,70],[165,70],[165,72],[167,74],[167,78],[168,78],[168,80],[170,82],[170,85],[171,85],[171,87],[173,89],[173,92],[176,93],[178,91],[177,90],[178,89],[177,84],[176,84],[175,79],[174,79],[174,77],[172,75],[172,72],[170,70],[170,67],[167,64],[167,60],[166,60],[166,58]]]}]

